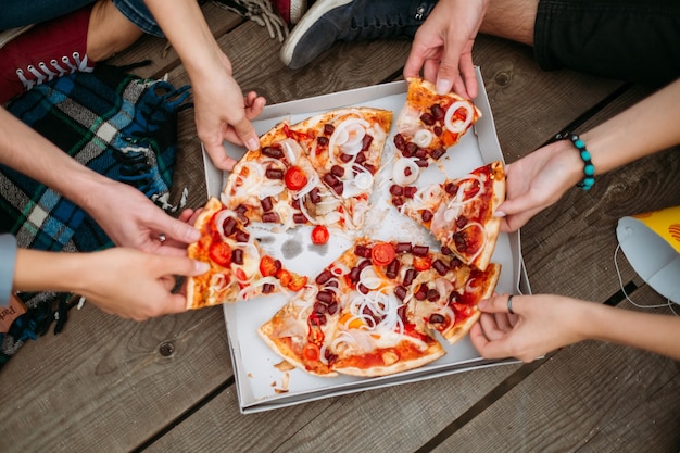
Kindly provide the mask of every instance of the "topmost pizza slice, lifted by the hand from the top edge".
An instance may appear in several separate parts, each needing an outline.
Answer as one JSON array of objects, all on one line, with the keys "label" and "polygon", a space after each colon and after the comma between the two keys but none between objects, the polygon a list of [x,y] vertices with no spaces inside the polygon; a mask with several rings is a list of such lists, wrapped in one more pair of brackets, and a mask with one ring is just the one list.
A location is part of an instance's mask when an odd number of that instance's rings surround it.
[{"label": "topmost pizza slice, lifted by the hand from the top edge", "polygon": [[408,91],[395,125],[394,146],[419,166],[439,161],[481,117],[473,101],[449,92],[439,95],[423,78],[407,79]]}]

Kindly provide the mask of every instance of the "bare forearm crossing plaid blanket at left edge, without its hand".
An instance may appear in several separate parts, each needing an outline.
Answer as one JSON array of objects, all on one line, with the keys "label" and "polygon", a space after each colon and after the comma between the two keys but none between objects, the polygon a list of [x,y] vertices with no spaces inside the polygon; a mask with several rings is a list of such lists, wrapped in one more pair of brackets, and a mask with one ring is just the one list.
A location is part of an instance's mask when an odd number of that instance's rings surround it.
[{"label": "bare forearm crossing plaid blanket at left edge, without its hand", "polygon": [[0,109],[0,163],[45,184],[88,212],[112,184],[4,109]]}]

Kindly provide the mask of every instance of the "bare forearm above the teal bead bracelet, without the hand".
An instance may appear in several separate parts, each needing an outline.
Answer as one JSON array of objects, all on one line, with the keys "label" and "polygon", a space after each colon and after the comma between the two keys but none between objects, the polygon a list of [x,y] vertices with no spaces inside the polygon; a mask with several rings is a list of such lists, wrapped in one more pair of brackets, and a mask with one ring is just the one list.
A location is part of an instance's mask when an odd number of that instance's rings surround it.
[{"label": "bare forearm above the teal bead bracelet, without the hand", "polygon": [[581,138],[597,174],[680,143],[680,79]]}]

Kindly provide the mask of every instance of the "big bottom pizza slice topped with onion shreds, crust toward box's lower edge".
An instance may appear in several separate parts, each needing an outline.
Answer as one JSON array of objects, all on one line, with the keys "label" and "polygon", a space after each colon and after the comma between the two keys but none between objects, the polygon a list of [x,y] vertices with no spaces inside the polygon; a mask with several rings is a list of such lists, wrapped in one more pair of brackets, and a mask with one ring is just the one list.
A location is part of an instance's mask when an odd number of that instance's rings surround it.
[{"label": "big bottom pizza slice topped with onion shreds, crust toward box's lower edge", "polygon": [[286,360],[322,376],[420,367],[444,349],[425,323],[406,317],[402,280],[395,244],[360,240],[315,278],[312,297],[291,301],[260,334]]}]

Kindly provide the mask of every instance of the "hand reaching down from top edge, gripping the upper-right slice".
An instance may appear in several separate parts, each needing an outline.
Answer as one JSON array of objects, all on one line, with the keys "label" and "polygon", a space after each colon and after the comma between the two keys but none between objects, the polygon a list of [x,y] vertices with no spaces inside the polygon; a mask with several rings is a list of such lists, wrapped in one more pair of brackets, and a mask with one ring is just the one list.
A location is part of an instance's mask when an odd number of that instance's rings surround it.
[{"label": "hand reaching down from top edge, gripping the upper-right slice", "polygon": [[437,91],[473,99],[477,77],[473,45],[487,12],[489,0],[442,0],[418,28],[404,65],[404,77],[417,77],[423,68]]}]

